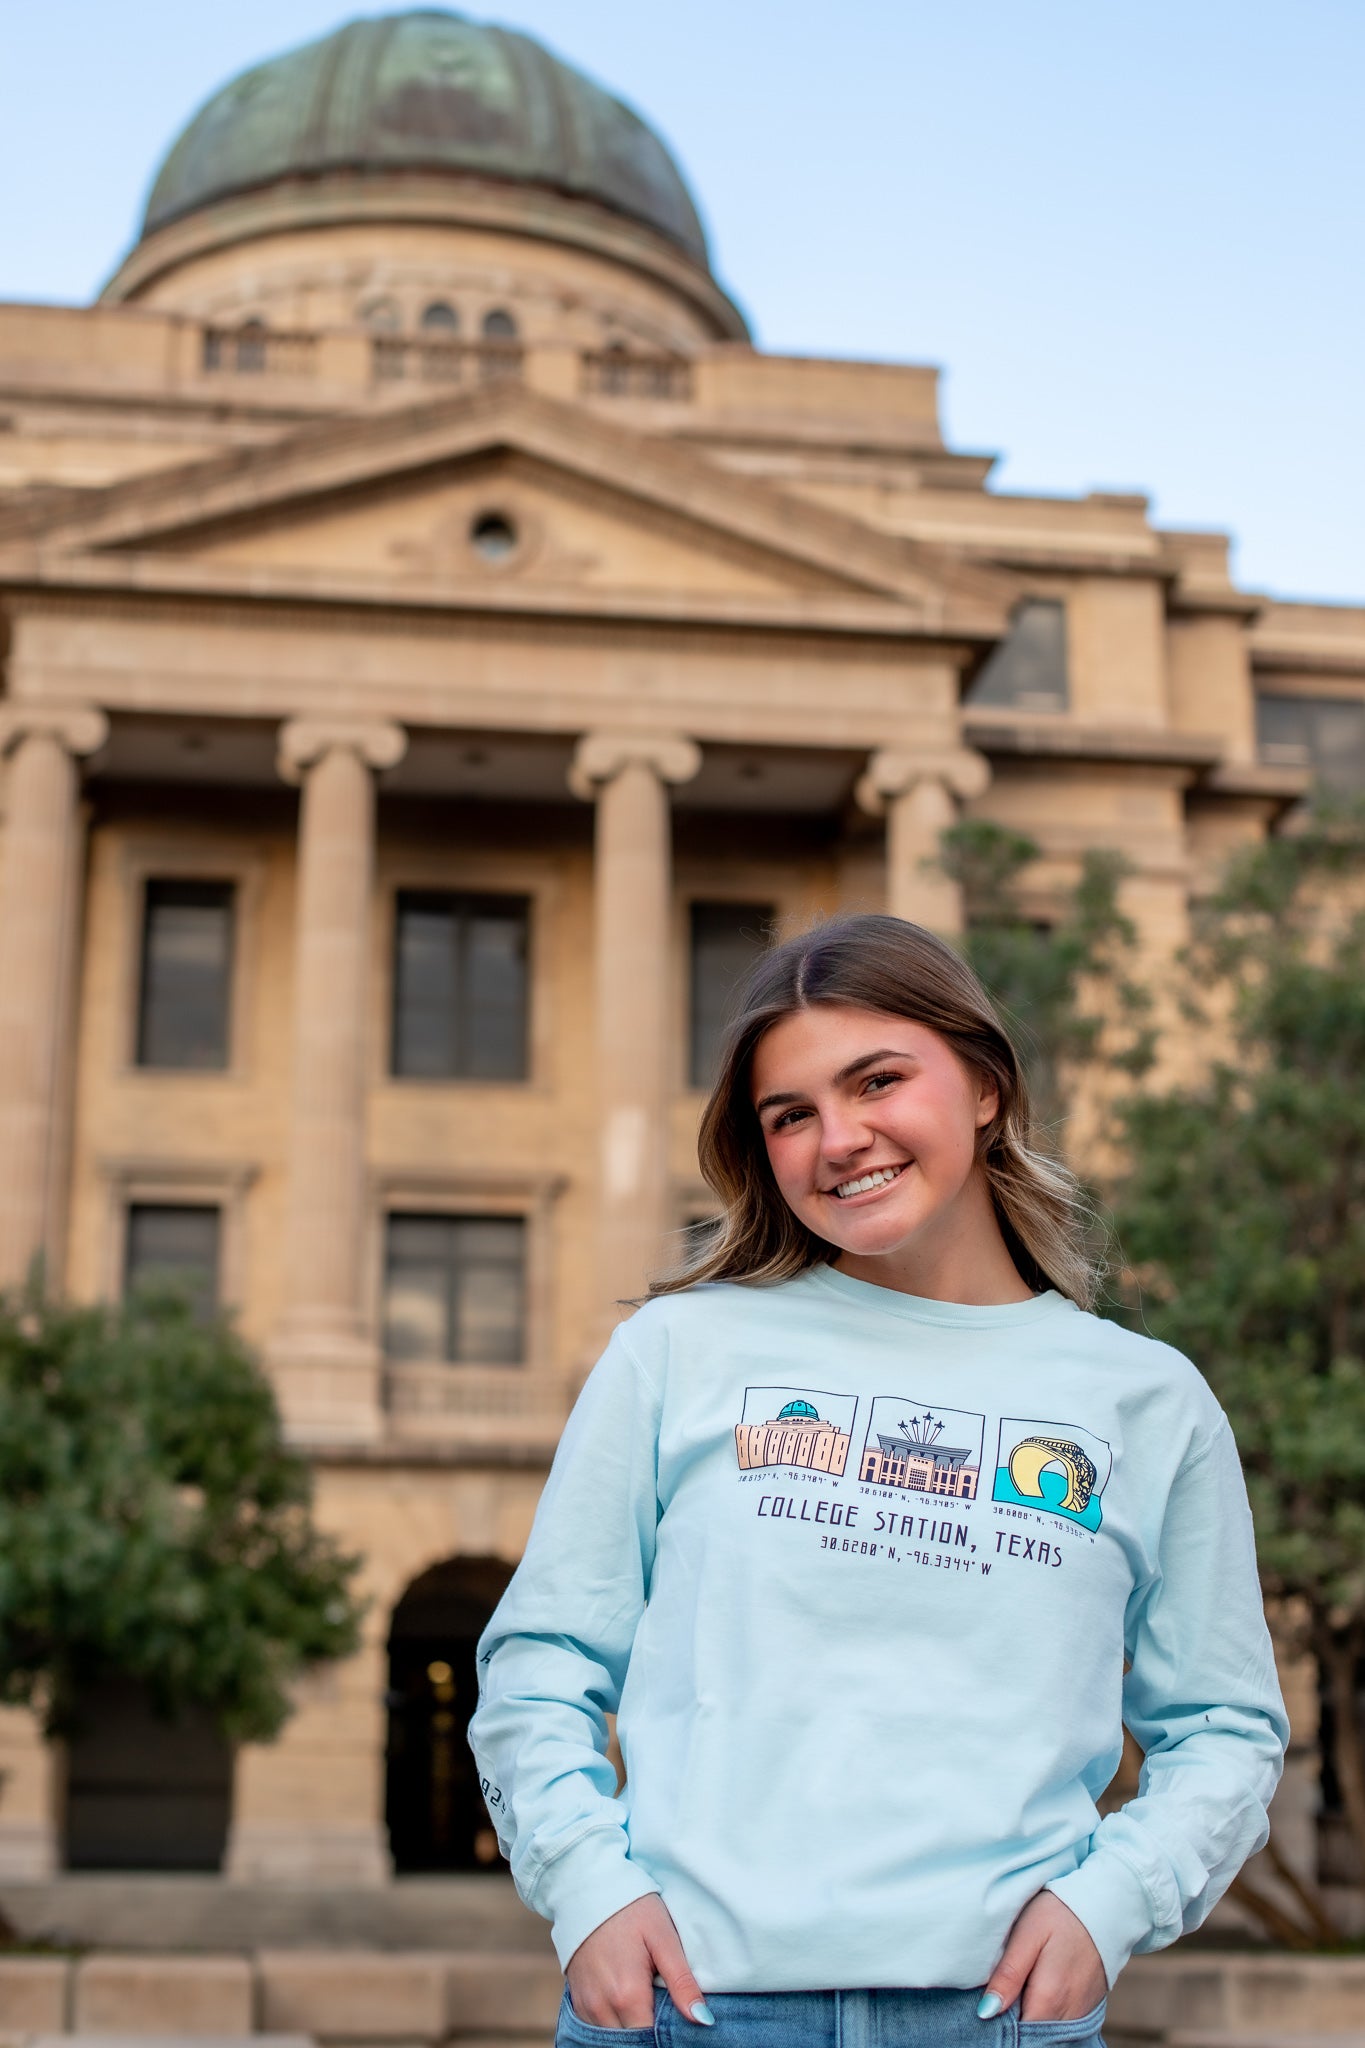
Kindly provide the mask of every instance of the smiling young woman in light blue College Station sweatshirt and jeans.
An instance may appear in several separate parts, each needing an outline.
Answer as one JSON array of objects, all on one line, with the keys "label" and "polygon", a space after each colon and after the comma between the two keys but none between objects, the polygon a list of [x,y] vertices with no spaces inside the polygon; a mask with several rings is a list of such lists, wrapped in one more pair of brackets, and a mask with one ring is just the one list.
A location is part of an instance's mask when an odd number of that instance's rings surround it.
[{"label": "smiling young woman in light blue College Station sweatshirt and jeans", "polygon": [[[1097,2042],[1267,1835],[1228,1423],[1089,1313],[1074,1182],[917,926],[763,956],[700,1159],[718,1235],[614,1333],[479,1651],[557,2040]],[[1142,1786],[1101,1819],[1121,1722]]]}]

